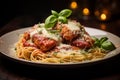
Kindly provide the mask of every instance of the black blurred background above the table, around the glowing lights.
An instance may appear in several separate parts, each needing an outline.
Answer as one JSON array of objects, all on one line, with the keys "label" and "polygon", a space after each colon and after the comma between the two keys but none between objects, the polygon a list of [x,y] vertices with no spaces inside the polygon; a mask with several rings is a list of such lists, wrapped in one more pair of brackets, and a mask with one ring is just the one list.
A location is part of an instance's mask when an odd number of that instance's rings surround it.
[{"label": "black blurred background above the table, around the glowing lights", "polygon": [[[1,0],[0,27],[3,27],[15,17],[23,15],[34,15],[37,17],[37,21],[44,21],[44,19],[51,14],[51,10],[59,12],[64,8],[70,8],[70,3],[72,1],[78,3],[78,9],[87,5],[91,10],[91,16],[94,16],[94,10],[99,7],[99,4],[104,4],[105,2],[112,4],[115,2],[116,7],[112,11],[112,18],[110,20],[120,19],[119,0]],[[104,4],[103,7],[106,7],[106,4]],[[108,8],[110,9],[110,7]],[[82,11],[79,11],[79,13],[80,12]],[[75,16],[77,15],[76,9]],[[77,18],[80,19],[78,16]]]}]

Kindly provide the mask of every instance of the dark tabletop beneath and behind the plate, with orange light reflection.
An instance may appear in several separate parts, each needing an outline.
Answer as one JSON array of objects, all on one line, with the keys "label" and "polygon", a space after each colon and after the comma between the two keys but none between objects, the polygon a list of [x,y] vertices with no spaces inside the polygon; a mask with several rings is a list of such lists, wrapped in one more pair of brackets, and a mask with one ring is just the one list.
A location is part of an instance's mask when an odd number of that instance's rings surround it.
[{"label": "dark tabletop beneath and behind the plate, with orange light reflection", "polygon": [[[44,21],[36,16],[16,17],[0,29],[0,36],[15,29],[33,26]],[[80,20],[81,24],[111,32],[120,37],[120,19],[101,22]],[[44,68],[15,62],[0,54],[0,80],[81,79],[120,80],[120,55],[109,60],[72,68]]]}]

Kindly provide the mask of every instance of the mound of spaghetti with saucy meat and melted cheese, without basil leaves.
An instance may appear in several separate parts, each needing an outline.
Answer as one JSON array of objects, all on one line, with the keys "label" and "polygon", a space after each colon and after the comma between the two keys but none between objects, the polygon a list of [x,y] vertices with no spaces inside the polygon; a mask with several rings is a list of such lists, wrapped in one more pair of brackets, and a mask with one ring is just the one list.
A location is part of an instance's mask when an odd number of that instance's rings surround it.
[{"label": "mound of spaghetti with saucy meat and melted cheese, without basil leaves", "polygon": [[94,46],[95,41],[76,21],[57,23],[53,29],[44,26],[44,23],[36,24],[21,34],[16,43],[17,57],[40,63],[76,63],[107,54]]}]

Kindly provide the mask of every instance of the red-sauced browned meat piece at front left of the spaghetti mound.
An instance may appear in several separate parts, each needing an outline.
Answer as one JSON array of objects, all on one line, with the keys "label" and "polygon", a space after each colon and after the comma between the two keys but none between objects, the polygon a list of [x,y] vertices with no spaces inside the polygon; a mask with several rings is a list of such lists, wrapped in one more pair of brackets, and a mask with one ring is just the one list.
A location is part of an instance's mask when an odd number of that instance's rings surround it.
[{"label": "red-sauced browned meat piece at front left of the spaghetti mound", "polygon": [[39,34],[34,34],[32,36],[32,41],[43,52],[47,52],[57,45],[56,40],[41,36]]}]

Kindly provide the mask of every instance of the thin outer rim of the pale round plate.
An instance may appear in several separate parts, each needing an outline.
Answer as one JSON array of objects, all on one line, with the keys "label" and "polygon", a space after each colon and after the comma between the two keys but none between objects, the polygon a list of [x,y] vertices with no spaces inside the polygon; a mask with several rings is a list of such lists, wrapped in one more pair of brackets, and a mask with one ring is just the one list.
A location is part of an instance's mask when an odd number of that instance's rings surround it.
[{"label": "thin outer rim of the pale round plate", "polygon": [[[29,28],[31,28],[31,27],[20,28],[20,29],[16,29],[16,30],[7,32],[7,33],[3,34],[2,36],[0,36],[0,41],[1,41],[2,38],[4,38],[4,36],[6,36],[6,35],[8,35],[8,34],[10,34],[10,33],[14,33],[14,32],[17,32],[17,31],[22,31],[22,30],[25,30],[25,31],[26,31],[26,29],[29,29]],[[85,27],[85,29],[86,29],[86,28],[88,28],[88,29],[93,29],[93,30],[98,30],[98,31],[102,31],[102,32],[108,33],[108,34],[110,34],[110,35],[112,35],[112,36],[115,36],[115,37],[119,38],[117,35],[115,35],[115,34],[113,34],[113,33],[110,33],[110,32],[108,32],[108,31],[104,31],[104,30],[97,29],[97,28],[92,28],[92,27]],[[120,39],[120,38],[119,38],[119,39]],[[1,44],[1,43],[0,43],[0,44]],[[6,54],[6,53],[4,53],[4,52],[2,52],[2,51],[0,51],[0,53],[1,53],[2,55],[4,55],[4,56],[10,58],[10,59],[17,60],[17,61],[20,62],[20,63],[24,63],[24,62],[25,62],[25,63],[27,63],[27,64],[29,64],[29,65],[32,64],[32,65],[37,65],[37,66],[42,66],[42,65],[43,65],[43,66],[45,66],[45,65],[49,65],[49,66],[69,66],[69,65],[91,64],[91,63],[95,63],[95,62],[99,62],[99,61],[101,62],[101,61],[104,61],[104,60],[106,60],[106,59],[112,58],[112,57],[120,54],[120,47],[117,48],[117,50],[118,50],[118,52],[117,52],[116,54],[111,55],[111,56],[108,56],[108,57],[106,57],[106,58],[102,58],[102,59],[98,59],[98,60],[93,60],[93,61],[90,60],[90,61],[83,61],[83,62],[77,62],[77,63],[62,63],[62,64],[60,64],[60,63],[40,63],[40,62],[33,62],[33,61],[29,61],[29,60],[24,60],[24,59],[20,59],[20,58],[11,57],[10,55],[8,55],[8,54]],[[114,50],[111,51],[111,53],[112,53],[112,52],[114,52]]]}]

